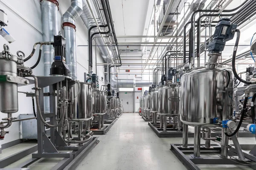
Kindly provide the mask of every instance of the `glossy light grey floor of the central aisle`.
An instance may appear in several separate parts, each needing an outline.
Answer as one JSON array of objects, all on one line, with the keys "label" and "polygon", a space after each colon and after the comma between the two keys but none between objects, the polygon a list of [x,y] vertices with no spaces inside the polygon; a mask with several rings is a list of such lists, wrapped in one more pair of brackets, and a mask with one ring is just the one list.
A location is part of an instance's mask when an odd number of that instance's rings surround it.
[{"label": "glossy light grey floor of the central aisle", "polygon": [[[123,113],[77,170],[186,170],[138,113]],[[182,139],[179,139],[182,142]]]}]

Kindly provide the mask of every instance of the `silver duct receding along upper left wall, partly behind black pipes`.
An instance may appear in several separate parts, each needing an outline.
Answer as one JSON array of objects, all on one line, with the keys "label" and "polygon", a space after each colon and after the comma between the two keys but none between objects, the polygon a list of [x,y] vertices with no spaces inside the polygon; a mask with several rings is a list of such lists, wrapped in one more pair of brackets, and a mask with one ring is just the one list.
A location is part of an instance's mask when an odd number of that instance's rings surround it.
[{"label": "silver duct receding along upper left wall, partly behind black pipes", "polygon": [[[93,20],[93,15],[90,12],[90,8],[89,8],[86,0],[83,0],[83,13],[81,14],[80,17],[83,20],[84,25],[87,27],[87,29],[89,29],[90,22],[94,22],[94,20]],[[91,33],[93,33],[93,30],[91,31]],[[88,38],[90,38],[90,37],[88,37]],[[102,37],[96,37],[95,42],[96,42],[96,45],[105,45]],[[107,61],[107,59],[109,57],[111,57],[110,56],[111,52],[110,52],[109,48],[106,46],[98,46],[98,48],[102,54],[102,57],[105,59],[105,61]]]}]

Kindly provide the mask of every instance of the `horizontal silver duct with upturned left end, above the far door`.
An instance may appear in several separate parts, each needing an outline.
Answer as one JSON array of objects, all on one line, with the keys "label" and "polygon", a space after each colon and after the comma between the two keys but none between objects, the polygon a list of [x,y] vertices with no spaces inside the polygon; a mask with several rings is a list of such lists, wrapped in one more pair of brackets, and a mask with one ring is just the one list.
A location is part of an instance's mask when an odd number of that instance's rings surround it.
[{"label": "horizontal silver duct with upturned left end, above the far door", "polygon": [[111,87],[112,88],[135,88],[135,87],[149,87],[153,84],[148,80],[136,80],[136,79],[118,79],[113,73],[114,68],[111,68]]}]

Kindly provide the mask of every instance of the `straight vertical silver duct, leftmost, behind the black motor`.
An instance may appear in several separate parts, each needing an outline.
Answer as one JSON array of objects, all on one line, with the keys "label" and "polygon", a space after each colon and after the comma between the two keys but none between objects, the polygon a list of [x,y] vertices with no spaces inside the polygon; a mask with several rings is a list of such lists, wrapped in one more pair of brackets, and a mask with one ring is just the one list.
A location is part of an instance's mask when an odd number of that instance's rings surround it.
[{"label": "straight vertical silver duct, leftmost, behind the black motor", "polygon": [[[55,2],[55,3],[52,3]],[[42,30],[43,41],[53,41],[54,35],[58,34],[58,1],[41,0],[42,11]],[[52,45],[43,46],[44,56],[44,76],[49,76],[50,68],[54,58],[54,48]],[[49,87],[44,88],[45,92],[49,92]],[[44,98],[44,112],[50,112],[49,97]]]}]

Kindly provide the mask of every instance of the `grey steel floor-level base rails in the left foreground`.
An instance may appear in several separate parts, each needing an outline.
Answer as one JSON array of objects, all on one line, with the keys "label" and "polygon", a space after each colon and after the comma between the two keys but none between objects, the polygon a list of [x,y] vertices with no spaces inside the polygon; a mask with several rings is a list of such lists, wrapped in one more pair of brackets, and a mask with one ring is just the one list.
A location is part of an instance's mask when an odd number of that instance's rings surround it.
[{"label": "grey steel floor-level base rails in the left foreground", "polygon": [[[76,167],[81,162],[81,160],[84,159],[84,157],[87,156],[88,153],[90,153],[90,151],[96,146],[96,144],[99,143],[98,138],[99,137],[93,137],[90,141],[85,143],[83,146],[77,147],[76,150],[73,150],[72,152],[70,152],[72,156],[70,156],[69,158],[63,158],[54,167],[52,167],[51,170],[75,170]],[[36,145],[36,147],[37,147],[37,145]],[[61,148],[58,148],[58,149],[61,149]],[[63,149],[66,149],[66,148],[63,147]],[[29,148],[27,150],[31,150],[31,148]],[[19,155],[19,154],[20,153],[16,153],[16,155]],[[23,154],[23,157],[25,157],[29,154],[30,154],[29,152],[26,152]],[[52,153],[52,154],[54,154],[54,153]],[[30,168],[28,166],[33,163],[36,164],[36,161],[39,161],[40,159],[41,158],[31,158],[28,161],[25,161],[25,162],[17,165],[14,168],[3,168],[1,170],[24,170],[24,169],[29,170]],[[15,159],[15,161],[17,161],[17,160]],[[9,163],[12,164],[15,161],[12,161]],[[46,163],[47,163],[47,161],[46,161]],[[2,164],[1,164],[1,167],[3,167]],[[33,168],[33,167],[31,167],[31,168]]]}]

